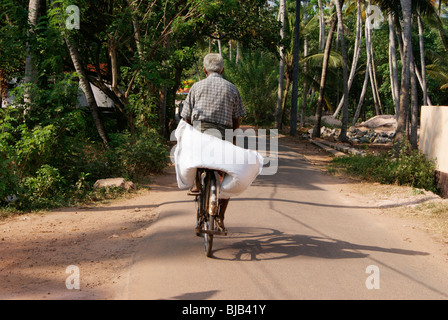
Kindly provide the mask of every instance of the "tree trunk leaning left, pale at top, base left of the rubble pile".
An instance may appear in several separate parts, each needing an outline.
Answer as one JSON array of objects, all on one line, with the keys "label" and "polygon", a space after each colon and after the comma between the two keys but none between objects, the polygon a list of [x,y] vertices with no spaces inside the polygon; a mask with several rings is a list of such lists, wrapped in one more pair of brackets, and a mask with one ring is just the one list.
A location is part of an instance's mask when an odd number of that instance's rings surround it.
[{"label": "tree trunk leaning left, pale at top, base left of the rubble pile", "polygon": [[339,135],[339,140],[345,142],[347,138],[347,125],[348,125],[348,67],[347,67],[347,48],[345,46],[345,33],[344,33],[344,21],[342,19],[342,5],[344,0],[335,0],[336,11],[338,15],[338,29],[341,41],[342,52],[342,78],[344,82],[344,107],[342,109],[342,127]]}]

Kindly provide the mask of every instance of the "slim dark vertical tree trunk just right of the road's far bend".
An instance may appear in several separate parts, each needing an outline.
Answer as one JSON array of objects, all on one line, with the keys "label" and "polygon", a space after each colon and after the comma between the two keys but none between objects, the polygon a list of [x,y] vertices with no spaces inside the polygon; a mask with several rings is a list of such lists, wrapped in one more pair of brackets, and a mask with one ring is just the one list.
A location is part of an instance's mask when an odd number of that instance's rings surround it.
[{"label": "slim dark vertical tree trunk just right of the road's far bend", "polygon": [[296,0],[296,22],[294,27],[294,54],[293,54],[293,80],[291,99],[291,126],[289,134],[297,135],[297,102],[299,95],[299,34],[300,34],[300,5],[301,0]]}]

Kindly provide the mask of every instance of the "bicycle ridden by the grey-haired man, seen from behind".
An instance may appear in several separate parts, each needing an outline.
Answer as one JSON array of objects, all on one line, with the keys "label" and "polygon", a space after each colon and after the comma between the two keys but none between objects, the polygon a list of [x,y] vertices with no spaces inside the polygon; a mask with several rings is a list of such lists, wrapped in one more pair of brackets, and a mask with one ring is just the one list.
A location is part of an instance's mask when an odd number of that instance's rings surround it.
[{"label": "bicycle ridden by the grey-haired man, seen from behind", "polygon": [[216,217],[219,213],[219,191],[221,183],[216,170],[200,168],[196,173],[196,185],[199,194],[197,203],[196,235],[204,237],[204,251],[207,257],[212,254],[213,237],[226,236],[227,232],[218,230]]}]

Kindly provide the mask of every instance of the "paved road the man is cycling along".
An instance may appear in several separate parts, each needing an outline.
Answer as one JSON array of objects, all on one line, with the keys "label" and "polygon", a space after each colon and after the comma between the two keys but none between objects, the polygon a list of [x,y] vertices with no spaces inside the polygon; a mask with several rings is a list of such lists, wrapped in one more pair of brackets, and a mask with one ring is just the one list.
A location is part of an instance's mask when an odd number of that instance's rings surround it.
[{"label": "paved road the man is cycling along", "polygon": [[280,145],[279,155],[276,175],[260,176],[230,202],[230,234],[215,238],[212,258],[194,235],[192,198],[166,177],[171,185],[155,188],[160,216],[134,257],[127,297],[448,298],[447,269],[433,264],[430,252],[341,195],[340,180],[294,149]]}]

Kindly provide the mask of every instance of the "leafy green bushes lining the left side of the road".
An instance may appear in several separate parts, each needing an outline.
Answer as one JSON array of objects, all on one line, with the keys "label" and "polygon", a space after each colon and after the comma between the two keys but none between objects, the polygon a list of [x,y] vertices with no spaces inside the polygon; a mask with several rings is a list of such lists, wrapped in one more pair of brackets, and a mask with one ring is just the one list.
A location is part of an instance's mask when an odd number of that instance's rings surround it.
[{"label": "leafy green bushes lining the left side of the road", "polygon": [[117,192],[94,191],[96,180],[135,179],[162,171],[169,161],[153,130],[111,134],[105,150],[85,134],[89,115],[78,109],[62,110],[51,125],[20,123],[17,112],[0,110],[0,208],[26,211],[103,199]]}]

